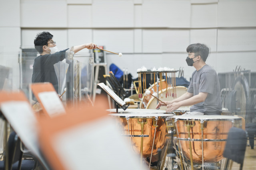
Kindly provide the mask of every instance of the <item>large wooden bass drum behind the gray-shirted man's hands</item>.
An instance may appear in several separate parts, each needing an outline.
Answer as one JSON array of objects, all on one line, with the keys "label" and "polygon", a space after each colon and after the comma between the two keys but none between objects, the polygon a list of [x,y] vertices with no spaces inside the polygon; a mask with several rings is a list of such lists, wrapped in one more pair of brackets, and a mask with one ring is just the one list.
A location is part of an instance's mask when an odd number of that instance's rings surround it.
[{"label": "large wooden bass drum behind the gray-shirted man's hands", "polygon": [[[172,91],[172,87],[168,87],[168,92]],[[176,94],[177,94],[177,98],[179,98],[180,96],[182,96],[183,94],[185,94],[187,92],[188,88],[184,87],[184,86],[176,86]],[[166,88],[162,90],[159,90],[158,94],[159,94],[159,99],[162,101],[171,101],[174,100],[176,98],[173,98],[172,96],[168,96],[166,98]],[[161,96],[163,96],[163,98],[161,98]],[[145,95],[142,98],[142,103],[140,105],[140,108],[146,108],[146,109],[156,109],[156,104],[157,100],[156,98],[152,97],[150,94],[149,95]],[[146,107],[145,107],[146,106]],[[166,110],[166,106],[162,106],[160,107],[160,110]]]}]

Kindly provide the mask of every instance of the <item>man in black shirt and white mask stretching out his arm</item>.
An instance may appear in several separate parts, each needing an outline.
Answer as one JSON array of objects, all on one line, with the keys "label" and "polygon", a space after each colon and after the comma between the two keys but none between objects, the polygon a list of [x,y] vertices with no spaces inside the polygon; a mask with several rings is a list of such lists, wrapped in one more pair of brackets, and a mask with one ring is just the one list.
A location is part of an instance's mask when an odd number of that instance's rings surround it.
[{"label": "man in black shirt and white mask stretching out his arm", "polygon": [[[52,39],[53,35],[49,32],[41,32],[34,39],[35,49],[40,53],[34,60],[32,82],[50,82],[58,93],[58,79],[54,70],[54,64],[66,58],[68,49],[58,51],[56,42]],[[87,48],[96,49],[94,43],[74,46],[74,53]]]}]

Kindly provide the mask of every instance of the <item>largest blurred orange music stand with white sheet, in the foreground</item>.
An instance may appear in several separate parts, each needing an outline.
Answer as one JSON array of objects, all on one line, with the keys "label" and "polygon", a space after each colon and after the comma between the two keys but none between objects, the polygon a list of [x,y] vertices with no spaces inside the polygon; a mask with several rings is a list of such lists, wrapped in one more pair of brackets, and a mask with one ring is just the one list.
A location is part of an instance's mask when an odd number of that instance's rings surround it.
[{"label": "largest blurred orange music stand with white sheet, in the foreground", "polygon": [[[116,133],[118,129],[112,121],[110,122],[111,117],[108,116],[107,108],[107,100],[98,98],[94,106],[80,105],[68,108],[67,114],[39,120],[40,147],[52,169],[99,169],[99,166],[103,166],[103,164],[105,168],[109,166],[109,168],[115,169],[109,165],[110,162],[113,166],[120,166],[119,169],[123,170],[130,166],[133,167],[129,169],[133,170],[143,169],[140,167],[139,161],[138,164],[136,161],[131,161],[136,156],[130,156],[132,150],[128,150],[130,149],[128,145],[126,148],[119,149],[120,145],[124,145],[124,142],[119,142],[119,137],[123,137]],[[112,131],[108,131],[108,129],[112,129]],[[120,140],[122,141],[122,139]],[[112,150],[114,147],[118,149]],[[125,149],[131,152],[126,152]],[[128,156],[130,157],[128,158]],[[106,164],[99,162],[100,157]],[[119,162],[119,159],[122,160]],[[124,161],[133,163],[121,168],[125,164]],[[134,168],[135,165],[138,167]]]}]

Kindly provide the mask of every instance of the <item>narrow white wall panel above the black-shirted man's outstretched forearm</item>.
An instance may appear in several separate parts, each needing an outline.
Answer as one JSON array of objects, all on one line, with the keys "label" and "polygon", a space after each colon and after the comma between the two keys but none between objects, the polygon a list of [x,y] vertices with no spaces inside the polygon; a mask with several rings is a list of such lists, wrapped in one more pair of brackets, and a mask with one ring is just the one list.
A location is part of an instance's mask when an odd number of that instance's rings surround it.
[{"label": "narrow white wall panel above the black-shirted man's outstretched forearm", "polygon": [[[92,29],[68,29],[68,47],[92,42]],[[88,49],[80,52],[89,53]]]}]

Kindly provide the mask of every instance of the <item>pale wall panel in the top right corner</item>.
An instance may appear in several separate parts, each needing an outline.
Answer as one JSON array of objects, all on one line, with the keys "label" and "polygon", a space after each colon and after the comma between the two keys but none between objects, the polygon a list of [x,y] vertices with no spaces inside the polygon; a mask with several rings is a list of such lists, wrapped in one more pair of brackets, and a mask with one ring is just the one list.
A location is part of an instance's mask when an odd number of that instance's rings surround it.
[{"label": "pale wall panel in the top right corner", "polygon": [[219,0],[218,26],[256,26],[255,0]]}]

